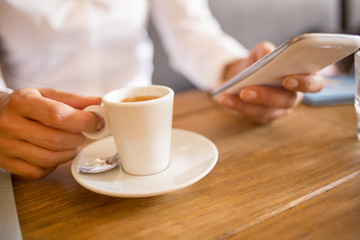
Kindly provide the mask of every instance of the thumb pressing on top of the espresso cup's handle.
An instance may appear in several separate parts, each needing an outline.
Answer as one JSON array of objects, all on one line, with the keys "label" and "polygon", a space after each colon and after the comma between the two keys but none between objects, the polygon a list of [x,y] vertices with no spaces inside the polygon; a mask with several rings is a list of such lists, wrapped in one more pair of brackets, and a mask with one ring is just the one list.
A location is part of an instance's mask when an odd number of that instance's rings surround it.
[{"label": "thumb pressing on top of the espresso cup's handle", "polygon": [[83,97],[56,89],[40,89],[39,91],[43,97],[65,103],[76,109],[84,109],[89,105],[99,105],[102,102],[100,97]]}]

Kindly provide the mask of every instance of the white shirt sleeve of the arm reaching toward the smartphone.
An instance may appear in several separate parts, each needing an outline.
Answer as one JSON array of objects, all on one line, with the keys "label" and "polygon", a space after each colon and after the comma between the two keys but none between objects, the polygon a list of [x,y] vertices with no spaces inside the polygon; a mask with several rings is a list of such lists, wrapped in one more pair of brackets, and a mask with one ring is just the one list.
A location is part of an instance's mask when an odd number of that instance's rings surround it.
[{"label": "white shirt sleeve of the arm reaching toward the smartphone", "polygon": [[218,86],[224,67],[248,50],[223,32],[207,0],[153,0],[152,19],[171,67],[198,88]]}]

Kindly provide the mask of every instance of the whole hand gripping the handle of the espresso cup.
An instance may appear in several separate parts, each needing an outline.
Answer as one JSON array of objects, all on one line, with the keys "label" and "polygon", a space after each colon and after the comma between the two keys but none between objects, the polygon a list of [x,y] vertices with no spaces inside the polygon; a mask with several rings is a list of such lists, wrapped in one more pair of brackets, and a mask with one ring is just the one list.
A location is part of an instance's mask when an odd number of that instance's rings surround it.
[{"label": "whole hand gripping the handle of the espresso cup", "polygon": [[53,89],[26,88],[0,98],[0,167],[28,178],[43,178],[74,158],[85,141],[81,131],[101,122],[81,111],[101,98]]}]

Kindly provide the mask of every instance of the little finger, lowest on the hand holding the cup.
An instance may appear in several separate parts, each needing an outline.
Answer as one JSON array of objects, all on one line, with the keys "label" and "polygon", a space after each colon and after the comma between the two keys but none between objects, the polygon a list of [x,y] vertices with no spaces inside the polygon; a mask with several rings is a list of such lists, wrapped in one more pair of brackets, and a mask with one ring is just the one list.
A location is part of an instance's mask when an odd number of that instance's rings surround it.
[{"label": "little finger, lowest on the hand holding the cup", "polygon": [[42,179],[56,168],[43,168],[27,161],[7,156],[0,156],[0,167],[18,176],[33,179]]}]

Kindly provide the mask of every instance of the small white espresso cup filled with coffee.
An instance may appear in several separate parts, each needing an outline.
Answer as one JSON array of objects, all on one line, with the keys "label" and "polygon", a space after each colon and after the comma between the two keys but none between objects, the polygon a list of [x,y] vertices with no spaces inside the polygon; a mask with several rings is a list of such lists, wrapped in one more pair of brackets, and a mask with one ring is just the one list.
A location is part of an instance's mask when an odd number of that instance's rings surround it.
[{"label": "small white espresso cup filled with coffee", "polygon": [[84,109],[101,115],[105,120],[104,127],[97,132],[83,134],[91,139],[111,134],[121,166],[129,174],[161,172],[170,163],[173,102],[174,91],[165,86],[111,91],[103,97],[102,105]]}]

